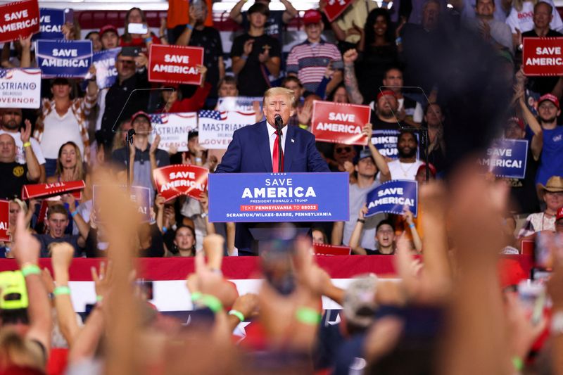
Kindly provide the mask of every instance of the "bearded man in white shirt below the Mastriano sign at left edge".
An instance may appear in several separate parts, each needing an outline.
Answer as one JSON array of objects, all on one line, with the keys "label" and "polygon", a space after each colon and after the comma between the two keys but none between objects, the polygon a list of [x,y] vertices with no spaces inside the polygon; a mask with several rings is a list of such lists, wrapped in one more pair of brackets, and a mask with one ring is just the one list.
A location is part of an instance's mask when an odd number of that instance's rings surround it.
[{"label": "bearded man in white shirt below the Mastriano sign at left edge", "polygon": [[[0,121],[0,134],[9,134],[12,136],[13,140],[15,141],[15,162],[23,165],[25,164],[26,147],[24,146],[20,134],[21,125],[22,110],[20,108],[5,108],[2,111]],[[43,152],[41,151],[41,147],[39,147],[39,142],[37,142],[37,139],[30,138],[30,148],[32,153],[34,153],[35,158],[37,158],[39,168],[41,169],[41,177],[39,177],[39,182],[44,182],[45,158],[43,157]]]}]

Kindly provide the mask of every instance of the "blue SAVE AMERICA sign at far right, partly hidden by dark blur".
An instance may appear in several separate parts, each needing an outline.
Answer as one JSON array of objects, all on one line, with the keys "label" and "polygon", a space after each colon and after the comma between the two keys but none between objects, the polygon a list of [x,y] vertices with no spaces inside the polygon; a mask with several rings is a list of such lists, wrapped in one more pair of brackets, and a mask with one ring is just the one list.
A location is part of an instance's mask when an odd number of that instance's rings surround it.
[{"label": "blue SAVE AMERICA sign at far right, partly hidden by dark blur", "polygon": [[526,177],[526,160],[528,141],[495,139],[493,146],[487,148],[486,157],[479,158],[478,162],[495,176],[523,179]]}]

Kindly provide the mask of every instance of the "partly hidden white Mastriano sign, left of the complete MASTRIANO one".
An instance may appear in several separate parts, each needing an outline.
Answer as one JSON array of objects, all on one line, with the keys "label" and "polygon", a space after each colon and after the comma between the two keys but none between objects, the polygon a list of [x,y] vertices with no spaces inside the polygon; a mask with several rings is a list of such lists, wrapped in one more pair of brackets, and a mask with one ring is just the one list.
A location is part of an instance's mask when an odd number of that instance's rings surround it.
[{"label": "partly hidden white Mastriano sign, left of the complete MASTRIANO one", "polygon": [[[184,113],[156,113],[151,115],[153,134],[160,135],[158,148],[169,151],[176,147],[179,152],[188,151],[188,134],[198,129],[198,114]],[[152,140],[151,140],[152,142]]]}]

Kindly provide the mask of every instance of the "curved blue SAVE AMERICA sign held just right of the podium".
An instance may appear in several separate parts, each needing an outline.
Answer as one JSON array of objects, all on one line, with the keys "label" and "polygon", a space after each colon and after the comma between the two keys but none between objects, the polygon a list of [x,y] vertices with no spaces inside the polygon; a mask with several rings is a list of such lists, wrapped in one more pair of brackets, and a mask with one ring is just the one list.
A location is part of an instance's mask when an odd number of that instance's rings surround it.
[{"label": "curved blue SAVE AMERICA sign held just right of the podium", "polygon": [[406,179],[394,179],[377,186],[367,193],[367,215],[390,213],[401,215],[407,206],[412,215],[418,211],[418,183]]}]

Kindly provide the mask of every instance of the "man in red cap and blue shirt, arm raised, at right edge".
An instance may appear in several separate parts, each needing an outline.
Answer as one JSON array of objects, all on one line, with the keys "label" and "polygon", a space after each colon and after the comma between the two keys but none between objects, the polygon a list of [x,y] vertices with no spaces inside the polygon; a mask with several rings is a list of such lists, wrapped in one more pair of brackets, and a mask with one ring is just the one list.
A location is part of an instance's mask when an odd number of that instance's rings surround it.
[{"label": "man in red cap and blue shirt, arm raised, at right edge", "polygon": [[536,185],[545,185],[550,177],[563,176],[563,127],[557,125],[557,117],[561,114],[559,99],[552,94],[541,96],[538,99],[536,119],[524,102],[523,90],[520,92],[520,107],[533,132],[531,142],[533,158],[540,163]]}]

